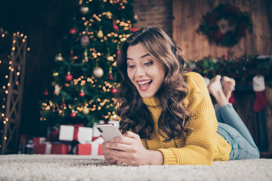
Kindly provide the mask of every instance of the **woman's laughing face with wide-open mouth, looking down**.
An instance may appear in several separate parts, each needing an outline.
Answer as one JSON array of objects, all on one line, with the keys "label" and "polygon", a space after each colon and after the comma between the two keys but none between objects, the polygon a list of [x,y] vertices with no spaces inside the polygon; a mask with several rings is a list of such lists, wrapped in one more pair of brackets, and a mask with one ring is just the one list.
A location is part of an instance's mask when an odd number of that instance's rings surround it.
[{"label": "woman's laughing face with wide-open mouth, looking down", "polygon": [[142,46],[127,48],[127,75],[143,98],[154,96],[162,85],[165,66],[154,59]]}]

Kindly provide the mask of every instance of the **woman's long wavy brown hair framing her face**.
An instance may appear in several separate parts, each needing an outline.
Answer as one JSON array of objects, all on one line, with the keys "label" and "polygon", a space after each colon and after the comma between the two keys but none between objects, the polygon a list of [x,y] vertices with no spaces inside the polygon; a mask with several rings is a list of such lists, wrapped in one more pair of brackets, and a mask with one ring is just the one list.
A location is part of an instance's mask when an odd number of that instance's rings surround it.
[{"label": "woman's long wavy brown hair framing her face", "polygon": [[127,75],[126,53],[129,46],[141,45],[157,61],[165,65],[165,77],[161,87],[154,95],[160,100],[162,113],[158,120],[159,134],[165,142],[179,138],[192,113],[184,106],[188,94],[187,83],[183,79],[185,61],[181,49],[163,30],[157,27],[145,27],[131,34],[120,46],[117,58],[117,69],[122,80],[116,93],[119,105],[117,114],[120,116],[122,134],[131,130],[142,139],[150,139],[154,131],[154,121],[147,106]]}]

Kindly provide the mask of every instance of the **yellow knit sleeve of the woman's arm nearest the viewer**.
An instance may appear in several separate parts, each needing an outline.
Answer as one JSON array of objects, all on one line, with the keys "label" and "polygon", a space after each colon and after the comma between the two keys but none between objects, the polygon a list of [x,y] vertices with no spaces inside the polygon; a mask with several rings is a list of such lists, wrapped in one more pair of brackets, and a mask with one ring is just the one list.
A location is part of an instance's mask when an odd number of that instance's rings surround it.
[{"label": "yellow knit sleeve of the woman's arm nearest the viewer", "polygon": [[163,153],[164,164],[212,165],[218,127],[214,107],[201,75],[187,73],[186,81],[189,88],[187,106],[195,116],[186,126],[185,146],[158,150]]}]

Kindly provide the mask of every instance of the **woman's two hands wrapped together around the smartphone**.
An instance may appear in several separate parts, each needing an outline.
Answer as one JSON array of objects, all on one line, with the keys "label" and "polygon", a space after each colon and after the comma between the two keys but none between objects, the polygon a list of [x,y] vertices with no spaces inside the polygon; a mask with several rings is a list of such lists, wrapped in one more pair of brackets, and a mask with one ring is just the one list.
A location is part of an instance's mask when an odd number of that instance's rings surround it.
[{"label": "woman's two hands wrapped together around the smartphone", "polygon": [[[113,138],[102,144],[105,159],[112,164],[120,162],[129,165],[163,164],[160,151],[147,150],[139,135],[127,131],[123,137]],[[105,150],[104,150],[105,149]]]}]

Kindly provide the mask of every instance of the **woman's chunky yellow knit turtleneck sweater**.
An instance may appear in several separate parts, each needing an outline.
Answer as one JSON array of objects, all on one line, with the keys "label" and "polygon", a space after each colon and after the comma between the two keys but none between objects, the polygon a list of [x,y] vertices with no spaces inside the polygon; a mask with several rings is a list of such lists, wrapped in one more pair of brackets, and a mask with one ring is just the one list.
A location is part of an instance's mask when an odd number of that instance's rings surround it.
[{"label": "woman's chunky yellow knit turtleneck sweater", "polygon": [[164,138],[158,133],[161,109],[154,97],[143,98],[154,120],[151,139],[142,139],[144,147],[161,151],[163,164],[212,165],[213,161],[229,160],[231,146],[216,132],[218,122],[205,81],[195,72],[184,74],[184,79],[188,84],[185,106],[195,113],[187,125],[190,129],[176,140],[163,142]]}]

